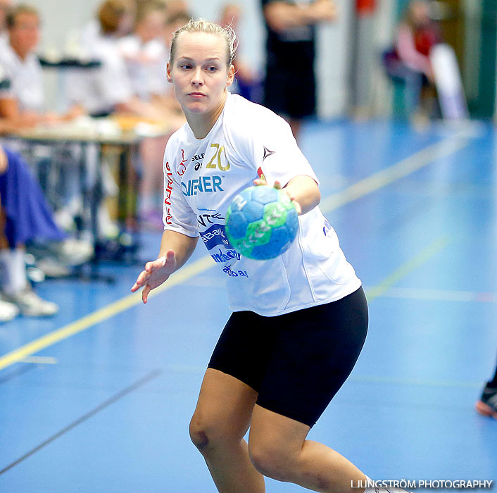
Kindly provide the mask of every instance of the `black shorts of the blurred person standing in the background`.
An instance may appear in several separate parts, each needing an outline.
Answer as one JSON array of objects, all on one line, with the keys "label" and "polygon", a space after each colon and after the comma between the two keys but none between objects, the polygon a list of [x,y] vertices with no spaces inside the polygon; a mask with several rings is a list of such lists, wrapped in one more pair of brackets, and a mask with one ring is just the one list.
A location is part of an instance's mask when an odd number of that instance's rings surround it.
[{"label": "black shorts of the blurred person standing in the background", "polygon": [[316,84],[312,66],[297,71],[295,65],[266,68],[263,104],[278,115],[300,120],[315,114]]}]

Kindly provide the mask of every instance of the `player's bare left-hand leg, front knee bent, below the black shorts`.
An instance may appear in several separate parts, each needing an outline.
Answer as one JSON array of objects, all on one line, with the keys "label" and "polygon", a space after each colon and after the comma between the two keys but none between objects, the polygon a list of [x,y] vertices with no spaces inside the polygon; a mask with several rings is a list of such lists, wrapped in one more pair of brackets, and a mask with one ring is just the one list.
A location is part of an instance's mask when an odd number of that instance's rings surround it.
[{"label": "player's bare left-hand leg, front knee bent, below the black shorts", "polygon": [[264,493],[264,478],[253,467],[243,439],[256,403],[255,390],[209,368],[190,423],[199,449],[220,493]]}]

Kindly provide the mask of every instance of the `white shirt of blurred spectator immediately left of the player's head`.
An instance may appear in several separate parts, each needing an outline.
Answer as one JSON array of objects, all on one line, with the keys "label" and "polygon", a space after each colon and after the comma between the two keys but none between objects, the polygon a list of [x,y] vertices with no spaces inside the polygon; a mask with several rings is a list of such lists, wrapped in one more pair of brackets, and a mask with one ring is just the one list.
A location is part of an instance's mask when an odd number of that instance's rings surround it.
[{"label": "white shirt of blurred spectator immediately left of the player's head", "polygon": [[136,35],[126,36],[119,42],[134,94],[148,101],[153,94],[164,94],[168,87],[165,68],[168,53],[159,39],[142,42]]}]

